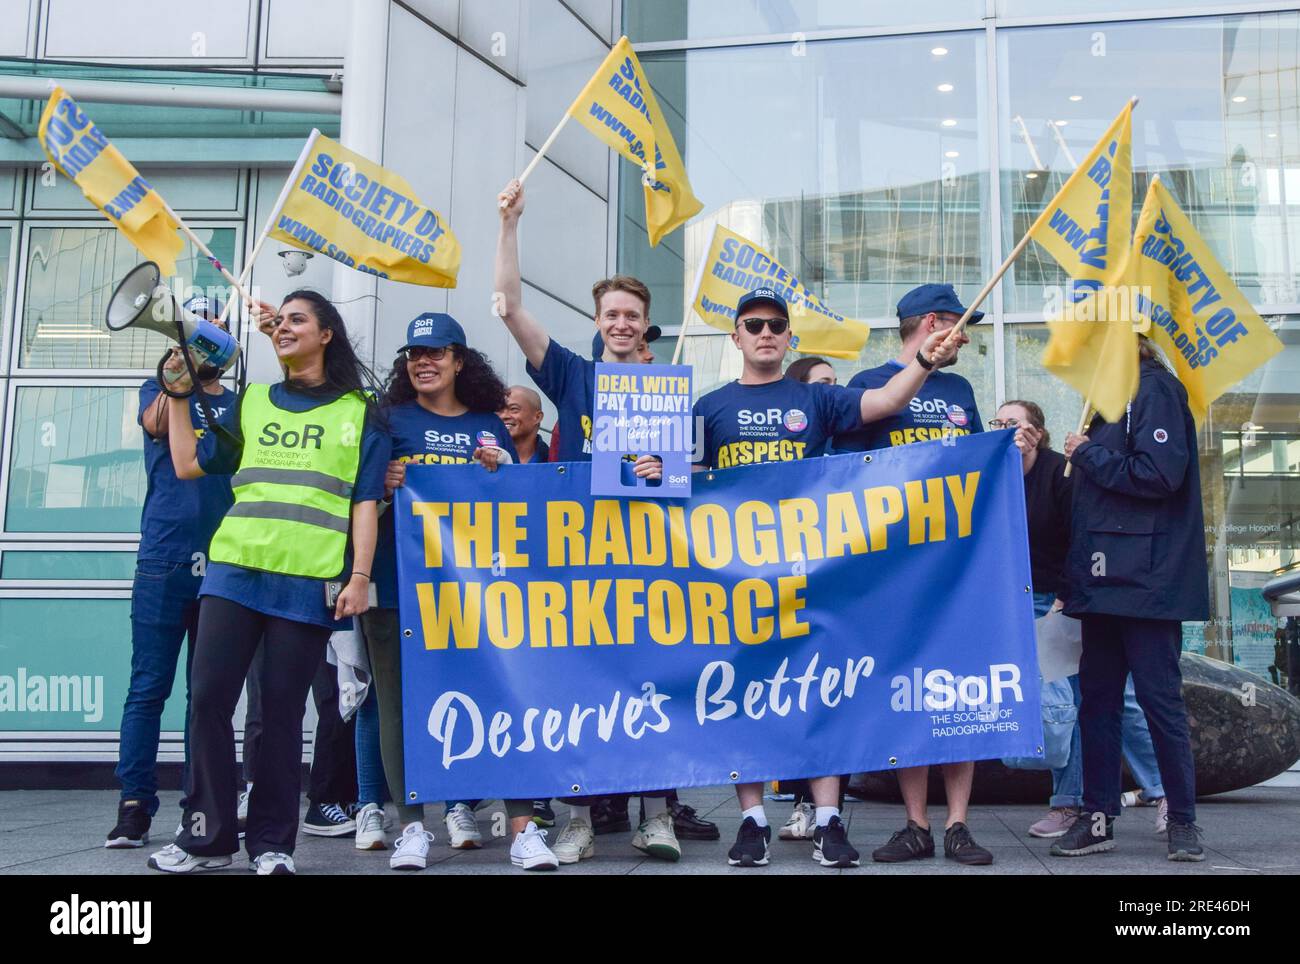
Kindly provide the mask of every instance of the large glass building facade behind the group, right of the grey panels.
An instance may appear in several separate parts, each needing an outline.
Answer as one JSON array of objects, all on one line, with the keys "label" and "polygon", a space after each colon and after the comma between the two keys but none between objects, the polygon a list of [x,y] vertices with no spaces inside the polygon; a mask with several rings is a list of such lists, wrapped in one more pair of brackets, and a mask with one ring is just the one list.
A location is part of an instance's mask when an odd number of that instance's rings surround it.
[{"label": "large glass building facade behind the group, right of the grey panels", "polygon": [[[647,247],[625,165],[618,265],[668,305],[655,321],[707,391],[740,353],[689,311],[697,265],[714,223],[754,239],[872,326],[857,361],[833,362],[842,382],[897,355],[914,286],[972,298],[1139,97],[1135,217],[1158,174],[1286,346],[1201,426],[1212,618],[1184,630],[1188,650],[1266,676],[1277,624],[1258,587],[1300,564],[1300,12],[1279,6],[627,0],[705,210]],[[1056,439],[1078,421],[1082,399],[1039,364],[1063,282],[1031,244],[983,305],[956,370],[984,418],[1030,399]]]}]

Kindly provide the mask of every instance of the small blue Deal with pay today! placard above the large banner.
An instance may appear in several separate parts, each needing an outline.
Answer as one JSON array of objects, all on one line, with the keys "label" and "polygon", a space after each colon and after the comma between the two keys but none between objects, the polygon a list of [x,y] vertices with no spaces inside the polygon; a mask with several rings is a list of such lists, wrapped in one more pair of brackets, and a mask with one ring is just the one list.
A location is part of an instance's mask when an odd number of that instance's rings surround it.
[{"label": "small blue Deal with pay today! placard above the large banner", "polygon": [[[594,416],[592,495],[690,495],[690,365],[598,361]],[[633,466],[644,455],[663,463],[660,477],[636,474]]]}]

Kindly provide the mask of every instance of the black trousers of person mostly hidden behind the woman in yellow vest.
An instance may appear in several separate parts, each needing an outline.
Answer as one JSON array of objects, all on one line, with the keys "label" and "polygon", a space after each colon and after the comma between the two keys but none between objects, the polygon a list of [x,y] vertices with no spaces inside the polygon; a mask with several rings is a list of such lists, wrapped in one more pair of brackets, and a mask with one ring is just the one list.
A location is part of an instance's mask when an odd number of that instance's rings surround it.
[{"label": "black trousers of person mostly hidden behind the woman in yellow vest", "polygon": [[[261,664],[257,651],[248,669],[248,704],[244,713],[243,778],[256,782],[257,756],[261,744]],[[307,781],[307,799],[312,803],[354,803],[356,800],[356,715],[343,721],[338,713],[338,670],[321,651],[320,665],[312,677],[312,700],[316,703],[316,741],[312,769]]]}]

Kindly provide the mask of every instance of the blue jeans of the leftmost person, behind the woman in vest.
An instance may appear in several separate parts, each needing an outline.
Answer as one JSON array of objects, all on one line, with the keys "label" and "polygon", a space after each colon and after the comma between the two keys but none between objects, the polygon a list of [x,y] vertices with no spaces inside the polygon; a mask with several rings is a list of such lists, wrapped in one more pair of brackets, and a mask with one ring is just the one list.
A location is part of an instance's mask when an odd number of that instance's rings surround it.
[{"label": "blue jeans of the leftmost person, behind the woman in vest", "polygon": [[[185,777],[190,768],[190,661],[199,625],[199,585],[192,563],[138,560],[131,585],[131,682],[122,708],[117,780],[124,800],[140,800],[152,817],[159,809],[159,737],[162,705],[176,682],[176,664],[186,634]],[[185,800],[181,800],[182,808]]]}]

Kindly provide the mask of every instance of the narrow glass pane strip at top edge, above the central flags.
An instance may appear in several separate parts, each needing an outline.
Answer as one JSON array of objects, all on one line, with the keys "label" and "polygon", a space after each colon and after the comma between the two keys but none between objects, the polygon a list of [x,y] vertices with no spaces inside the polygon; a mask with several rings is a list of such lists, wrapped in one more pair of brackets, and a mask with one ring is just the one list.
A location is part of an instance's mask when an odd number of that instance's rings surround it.
[{"label": "narrow glass pane strip at top edge, above the central flags", "polygon": [[[807,30],[953,23],[984,16],[984,0],[625,0],[623,25],[633,42],[762,36]],[[797,40],[798,38],[792,38]]]}]

